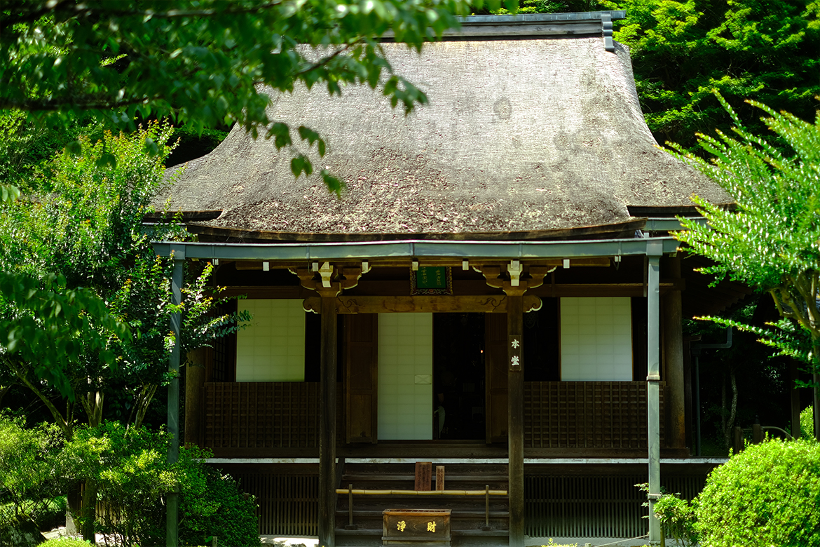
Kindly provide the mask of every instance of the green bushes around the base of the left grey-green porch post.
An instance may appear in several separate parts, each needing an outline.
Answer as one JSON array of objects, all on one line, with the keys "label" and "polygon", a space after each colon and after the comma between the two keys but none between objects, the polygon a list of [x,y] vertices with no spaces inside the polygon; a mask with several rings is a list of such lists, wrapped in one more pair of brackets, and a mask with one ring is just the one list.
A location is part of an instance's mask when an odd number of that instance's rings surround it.
[{"label": "green bushes around the base of the left grey-green porch post", "polygon": [[[208,454],[180,448],[168,463],[169,435],[119,422],[84,426],[75,432],[62,457],[72,478],[93,484],[105,510],[96,529],[116,545],[162,545],[165,541],[165,498],[180,492],[180,543],[257,545],[259,536],[253,498],[236,481],[203,463]],[[82,521],[83,515],[78,514]]]}]

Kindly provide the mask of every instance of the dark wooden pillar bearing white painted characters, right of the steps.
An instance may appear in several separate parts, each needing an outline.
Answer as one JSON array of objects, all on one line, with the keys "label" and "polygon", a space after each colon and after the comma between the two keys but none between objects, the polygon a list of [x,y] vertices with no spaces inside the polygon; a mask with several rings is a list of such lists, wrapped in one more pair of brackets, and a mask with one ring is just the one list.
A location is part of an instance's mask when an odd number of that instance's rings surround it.
[{"label": "dark wooden pillar bearing white painted characters, right of the steps", "polygon": [[508,495],[510,547],[524,547],[523,290],[507,289]]}]

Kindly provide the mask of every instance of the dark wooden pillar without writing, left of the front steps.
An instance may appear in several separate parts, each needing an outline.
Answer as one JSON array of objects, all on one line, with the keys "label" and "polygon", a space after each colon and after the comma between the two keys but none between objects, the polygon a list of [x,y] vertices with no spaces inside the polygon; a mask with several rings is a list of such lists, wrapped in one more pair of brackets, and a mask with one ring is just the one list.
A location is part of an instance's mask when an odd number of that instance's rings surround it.
[{"label": "dark wooden pillar without writing, left of the front steps", "polygon": [[336,545],[336,294],[321,294],[319,545],[323,547]]}]

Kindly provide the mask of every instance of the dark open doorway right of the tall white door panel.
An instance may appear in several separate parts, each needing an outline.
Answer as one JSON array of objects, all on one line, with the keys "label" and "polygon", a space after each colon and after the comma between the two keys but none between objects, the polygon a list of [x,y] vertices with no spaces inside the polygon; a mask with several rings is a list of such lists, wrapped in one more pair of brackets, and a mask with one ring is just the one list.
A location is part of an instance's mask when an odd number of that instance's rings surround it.
[{"label": "dark open doorway right of the tall white door panel", "polygon": [[484,314],[433,315],[433,438],[484,440]]}]

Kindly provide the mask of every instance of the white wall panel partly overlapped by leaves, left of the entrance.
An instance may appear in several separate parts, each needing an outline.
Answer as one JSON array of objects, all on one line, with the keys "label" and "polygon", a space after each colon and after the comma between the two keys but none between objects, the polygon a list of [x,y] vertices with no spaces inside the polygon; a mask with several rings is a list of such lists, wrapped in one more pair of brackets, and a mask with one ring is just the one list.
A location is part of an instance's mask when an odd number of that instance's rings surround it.
[{"label": "white wall panel partly overlapped by leaves, left of the entrance", "polygon": [[305,380],[305,312],[302,300],[239,300],[253,314],[236,335],[236,381]]}]

